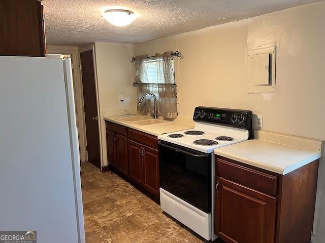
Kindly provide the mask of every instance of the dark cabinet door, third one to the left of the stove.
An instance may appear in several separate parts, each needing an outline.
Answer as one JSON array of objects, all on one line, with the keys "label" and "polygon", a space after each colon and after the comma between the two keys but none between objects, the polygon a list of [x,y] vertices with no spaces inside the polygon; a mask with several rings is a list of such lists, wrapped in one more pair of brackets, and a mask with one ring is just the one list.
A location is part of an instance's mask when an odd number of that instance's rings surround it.
[{"label": "dark cabinet door, third one to the left of the stove", "polygon": [[116,134],[116,163],[117,170],[121,173],[128,174],[128,159],[127,159],[127,137]]}]

